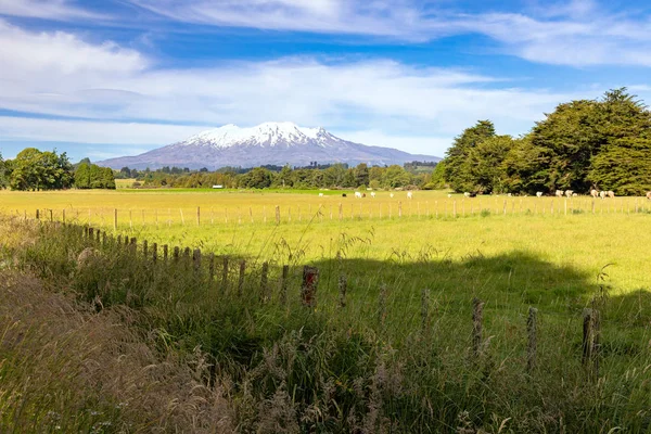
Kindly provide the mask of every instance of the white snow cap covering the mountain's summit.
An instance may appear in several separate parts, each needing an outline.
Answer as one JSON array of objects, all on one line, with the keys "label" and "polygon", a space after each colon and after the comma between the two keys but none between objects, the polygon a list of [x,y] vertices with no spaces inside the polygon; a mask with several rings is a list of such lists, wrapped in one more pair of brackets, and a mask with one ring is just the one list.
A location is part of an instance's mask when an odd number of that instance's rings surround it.
[{"label": "white snow cap covering the mountain's summit", "polygon": [[229,124],[209,129],[179,143],[181,145],[208,145],[212,148],[231,148],[235,145],[292,146],[312,142],[326,146],[327,138],[333,138],[323,128],[302,128],[296,124],[264,123],[251,128],[240,128]]}]

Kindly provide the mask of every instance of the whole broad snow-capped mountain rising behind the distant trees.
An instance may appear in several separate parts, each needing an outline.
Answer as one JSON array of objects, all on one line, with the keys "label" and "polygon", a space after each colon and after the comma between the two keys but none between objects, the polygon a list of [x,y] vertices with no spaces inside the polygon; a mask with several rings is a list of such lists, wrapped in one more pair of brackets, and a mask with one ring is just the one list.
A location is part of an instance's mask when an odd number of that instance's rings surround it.
[{"label": "whole broad snow-capped mountain rising behind the distant trees", "polygon": [[164,166],[216,169],[224,166],[256,167],[269,164],[307,166],[311,162],[391,165],[414,159],[432,162],[441,158],[349,142],[323,128],[302,128],[292,123],[265,123],[252,128],[226,125],[141,155],[112,158],[98,164],[115,169],[125,166],[138,169]]}]

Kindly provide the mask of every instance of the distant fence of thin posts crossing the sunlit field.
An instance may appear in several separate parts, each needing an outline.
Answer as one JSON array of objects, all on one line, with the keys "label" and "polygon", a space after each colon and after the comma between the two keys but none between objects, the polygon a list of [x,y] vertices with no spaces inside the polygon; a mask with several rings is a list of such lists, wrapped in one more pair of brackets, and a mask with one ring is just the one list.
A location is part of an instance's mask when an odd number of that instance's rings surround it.
[{"label": "distant fence of thin posts crossing the sunlit field", "polygon": [[[423,219],[448,219],[448,218],[468,218],[476,216],[571,216],[571,215],[604,215],[604,214],[620,214],[620,215],[635,215],[635,214],[651,214],[651,201],[640,197],[616,197],[607,200],[593,200],[585,197],[573,197],[573,199],[534,199],[531,197],[525,204],[521,197],[507,197],[498,200],[494,197],[493,201],[488,197],[463,197],[463,199],[447,199],[447,200],[435,200],[434,209],[430,208],[429,201],[421,203],[420,201],[408,201],[407,206],[403,201],[393,202],[381,202],[375,200],[358,200],[350,203],[349,213],[345,212],[344,203],[339,202],[336,204],[330,204],[329,208],[323,204],[318,204],[318,208],[315,212],[311,204],[308,204],[309,215],[308,218],[304,219],[304,210],[302,204],[296,205],[275,205],[275,225],[290,224],[293,221],[310,221],[322,222],[322,221],[350,221],[350,220],[423,220]],[[416,202],[416,204],[413,203]],[[335,207],[337,212],[335,213]],[[221,222],[214,216],[213,208],[210,208],[210,218],[202,219],[202,209],[200,206],[195,207],[196,221],[190,224],[187,221],[186,216],[188,210],[191,208],[178,208],[178,219],[173,218],[171,209],[167,209],[167,226],[173,225],[180,226],[216,226]],[[328,210],[329,209],[329,210]],[[424,212],[423,212],[424,209]],[[397,212],[397,213],[396,213]],[[165,215],[164,210],[158,208],[106,208],[106,207],[67,207],[67,208],[39,208],[34,214],[28,213],[27,209],[22,212],[15,209],[17,216],[23,214],[23,218],[26,219],[28,215],[33,215],[39,220],[61,221],[68,222],[75,221],[77,224],[99,226],[106,228],[106,217],[112,218],[110,224],[114,231],[118,228],[127,227],[130,230],[136,230],[139,227],[156,227],[159,228],[159,214]],[[133,213],[140,214],[140,218],[135,218]],[[229,219],[229,215],[232,215],[232,208],[229,210],[228,207],[224,208],[224,220],[226,225],[229,224],[267,224],[267,205],[250,205],[248,206],[248,218],[242,218],[242,208],[237,207],[238,218],[237,220]],[[294,217],[294,218],[292,218]],[[111,221],[111,220],[108,220]]]}]

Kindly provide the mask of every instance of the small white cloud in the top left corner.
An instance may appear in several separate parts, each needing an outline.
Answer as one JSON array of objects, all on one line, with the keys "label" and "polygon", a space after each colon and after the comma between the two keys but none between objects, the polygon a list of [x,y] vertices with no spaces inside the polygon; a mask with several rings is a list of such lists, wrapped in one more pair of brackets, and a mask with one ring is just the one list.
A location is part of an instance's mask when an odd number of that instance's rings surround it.
[{"label": "small white cloud in the top left corner", "polygon": [[66,0],[0,0],[0,15],[30,18],[100,18],[100,14],[76,8]]}]

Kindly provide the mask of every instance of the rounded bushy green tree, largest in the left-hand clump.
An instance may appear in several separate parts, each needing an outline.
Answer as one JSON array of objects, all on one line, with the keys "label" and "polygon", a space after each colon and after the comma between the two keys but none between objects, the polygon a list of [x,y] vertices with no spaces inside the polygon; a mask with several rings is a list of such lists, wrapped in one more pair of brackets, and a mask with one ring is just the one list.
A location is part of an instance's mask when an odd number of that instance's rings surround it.
[{"label": "rounded bushy green tree, largest in the left-hand clump", "polygon": [[72,187],[73,165],[61,155],[26,148],[11,161],[10,187],[13,190],[60,190]]}]

